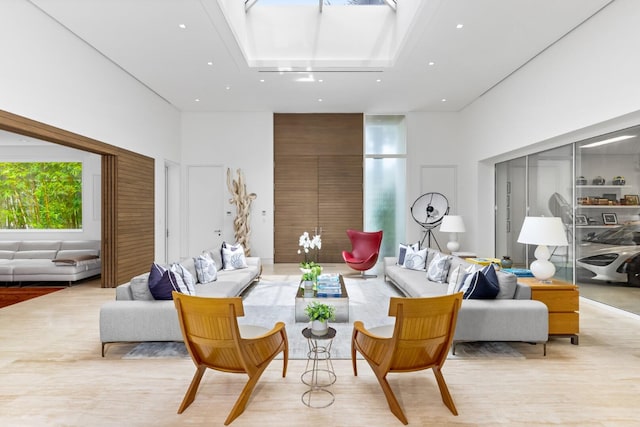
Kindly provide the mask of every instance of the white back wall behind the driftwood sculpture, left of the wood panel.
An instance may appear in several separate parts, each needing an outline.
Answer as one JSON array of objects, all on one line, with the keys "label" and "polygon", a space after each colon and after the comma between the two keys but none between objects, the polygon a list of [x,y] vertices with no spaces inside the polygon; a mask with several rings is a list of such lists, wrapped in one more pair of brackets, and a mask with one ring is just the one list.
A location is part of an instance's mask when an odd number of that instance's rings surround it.
[{"label": "white back wall behind the driftwood sculpture, left of the wood panel", "polygon": [[[232,179],[237,178],[236,170],[242,169],[247,192],[257,195],[251,204],[251,255],[259,256],[264,263],[273,263],[273,114],[185,113],[182,117],[181,139],[184,185],[184,174],[189,166],[216,165],[223,166],[225,170],[230,168]],[[224,188],[227,188],[226,180]],[[186,206],[186,193],[182,192],[183,206]],[[228,191],[223,197],[224,210],[231,211],[232,215],[225,217],[222,237],[232,242],[236,208],[228,201],[231,198]],[[190,224],[190,227],[193,226],[194,224]],[[186,253],[184,229],[182,236],[180,255],[197,255]]]}]

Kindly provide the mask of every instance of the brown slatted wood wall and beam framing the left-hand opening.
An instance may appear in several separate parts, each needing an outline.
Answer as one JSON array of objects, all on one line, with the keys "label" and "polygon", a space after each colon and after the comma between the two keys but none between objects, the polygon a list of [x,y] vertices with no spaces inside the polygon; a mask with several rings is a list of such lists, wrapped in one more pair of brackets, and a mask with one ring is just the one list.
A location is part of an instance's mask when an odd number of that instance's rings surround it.
[{"label": "brown slatted wood wall and beam framing the left-hand opening", "polygon": [[0,129],[101,155],[102,287],[149,271],[155,258],[153,158],[2,110]]}]

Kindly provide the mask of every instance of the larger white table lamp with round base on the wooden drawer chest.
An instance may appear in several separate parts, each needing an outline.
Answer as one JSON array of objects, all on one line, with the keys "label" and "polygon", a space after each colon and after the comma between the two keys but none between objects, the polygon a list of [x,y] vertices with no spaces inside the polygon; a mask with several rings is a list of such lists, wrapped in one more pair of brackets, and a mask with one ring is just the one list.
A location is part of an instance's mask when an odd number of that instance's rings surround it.
[{"label": "larger white table lamp with round base on the wooden drawer chest", "polygon": [[536,260],[529,267],[533,276],[541,282],[548,281],[556,273],[556,267],[549,257],[548,246],[567,246],[562,220],[558,217],[528,216],[524,218],[519,243],[538,245],[533,255]]}]

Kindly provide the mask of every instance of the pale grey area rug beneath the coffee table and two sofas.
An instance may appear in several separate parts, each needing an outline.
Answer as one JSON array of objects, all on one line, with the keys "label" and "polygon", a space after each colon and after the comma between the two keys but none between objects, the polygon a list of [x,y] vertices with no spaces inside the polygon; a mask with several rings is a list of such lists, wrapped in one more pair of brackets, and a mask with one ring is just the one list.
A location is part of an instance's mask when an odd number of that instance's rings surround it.
[{"label": "pale grey area rug beneath the coffee table and two sofas", "polygon": [[[361,320],[365,327],[393,324],[388,317],[389,298],[399,296],[398,291],[385,283],[382,278],[345,279],[349,294],[349,323],[330,322],[336,329],[332,342],[333,359],[351,359],[351,333],[353,322]],[[289,358],[306,359],[308,344],[302,336],[306,322],[295,321],[294,302],[297,283],[261,280],[243,295],[245,316],[238,319],[240,324],[271,327],[276,322],[284,322],[289,339]],[[359,355],[358,355],[359,356]],[[183,343],[141,343],[123,356],[125,359],[188,357]],[[524,357],[508,343],[461,343],[452,358],[483,357]]]}]

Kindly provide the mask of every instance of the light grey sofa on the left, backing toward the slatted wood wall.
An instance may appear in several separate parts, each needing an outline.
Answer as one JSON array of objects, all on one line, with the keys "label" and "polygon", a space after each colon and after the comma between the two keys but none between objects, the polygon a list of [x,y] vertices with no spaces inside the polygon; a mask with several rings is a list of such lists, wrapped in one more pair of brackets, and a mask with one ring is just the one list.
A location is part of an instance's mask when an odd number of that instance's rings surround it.
[{"label": "light grey sofa on the left, backing toward the slatted wood wall", "polygon": [[[208,250],[218,268],[222,265],[219,250]],[[196,283],[197,296],[231,297],[240,295],[260,278],[262,263],[247,257],[247,268],[220,270],[217,280]],[[180,262],[197,277],[193,258]],[[182,341],[178,314],[172,300],[155,300],[149,291],[149,273],[131,279],[116,288],[116,298],[100,308],[100,341],[105,346],[116,342]]]}]

